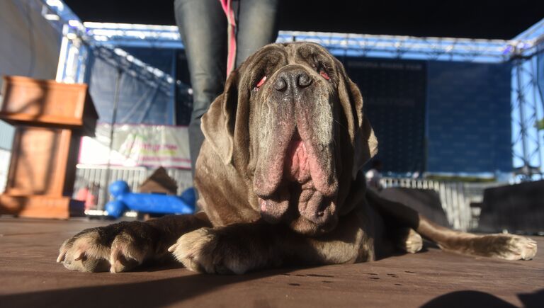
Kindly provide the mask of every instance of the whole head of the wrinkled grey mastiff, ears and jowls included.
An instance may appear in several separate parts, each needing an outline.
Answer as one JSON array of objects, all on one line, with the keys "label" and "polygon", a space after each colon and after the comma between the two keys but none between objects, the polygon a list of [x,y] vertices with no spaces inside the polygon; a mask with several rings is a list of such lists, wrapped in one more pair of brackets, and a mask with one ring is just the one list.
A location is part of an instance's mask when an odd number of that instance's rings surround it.
[{"label": "whole head of the wrinkled grey mastiff, ears and jowls included", "polygon": [[273,44],[233,75],[223,93],[233,147],[223,158],[246,166],[253,206],[267,222],[303,234],[334,229],[350,210],[341,207],[353,177],[376,147],[344,67],[317,44]]}]

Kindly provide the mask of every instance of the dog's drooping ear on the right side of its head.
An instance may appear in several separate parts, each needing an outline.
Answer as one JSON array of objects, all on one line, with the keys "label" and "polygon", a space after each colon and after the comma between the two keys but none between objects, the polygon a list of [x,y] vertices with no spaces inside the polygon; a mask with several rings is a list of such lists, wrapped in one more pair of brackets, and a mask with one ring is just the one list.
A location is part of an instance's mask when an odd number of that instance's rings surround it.
[{"label": "dog's drooping ear on the right side of its head", "polygon": [[357,177],[363,165],[378,153],[378,139],[370,126],[370,121],[363,113],[363,96],[358,86],[349,79],[344,66],[337,62],[336,66],[341,73],[339,96],[344,113],[348,120],[348,130],[353,140],[353,167],[351,176]]}]

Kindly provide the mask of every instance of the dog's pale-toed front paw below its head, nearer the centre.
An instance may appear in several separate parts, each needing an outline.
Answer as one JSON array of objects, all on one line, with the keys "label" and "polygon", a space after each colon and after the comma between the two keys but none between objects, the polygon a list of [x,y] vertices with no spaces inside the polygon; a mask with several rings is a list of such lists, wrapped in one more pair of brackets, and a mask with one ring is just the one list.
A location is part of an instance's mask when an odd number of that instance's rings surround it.
[{"label": "dog's pale-toed front paw below its head, nearer the centre", "polygon": [[168,250],[189,270],[200,273],[243,274],[250,265],[239,258],[239,244],[222,241],[215,229],[183,234]]}]

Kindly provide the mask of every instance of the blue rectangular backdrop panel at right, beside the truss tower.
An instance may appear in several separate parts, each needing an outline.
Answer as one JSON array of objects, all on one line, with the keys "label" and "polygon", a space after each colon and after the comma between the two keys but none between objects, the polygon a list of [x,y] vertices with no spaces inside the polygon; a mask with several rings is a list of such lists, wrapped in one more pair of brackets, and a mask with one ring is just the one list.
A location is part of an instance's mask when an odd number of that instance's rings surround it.
[{"label": "blue rectangular backdrop panel at right, beside the truss tower", "polygon": [[427,171],[512,171],[511,65],[428,65]]}]

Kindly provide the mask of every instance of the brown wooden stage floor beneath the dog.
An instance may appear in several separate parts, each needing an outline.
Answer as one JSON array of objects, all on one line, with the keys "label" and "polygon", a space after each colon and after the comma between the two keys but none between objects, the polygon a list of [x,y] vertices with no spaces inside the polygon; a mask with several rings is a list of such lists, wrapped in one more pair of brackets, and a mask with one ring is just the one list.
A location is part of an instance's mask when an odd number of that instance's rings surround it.
[{"label": "brown wooden stage floor beneath the dog", "polygon": [[64,239],[106,222],[0,218],[0,307],[544,307],[544,238],[533,261],[429,248],[373,263],[200,275],[185,268],[76,273]]}]

